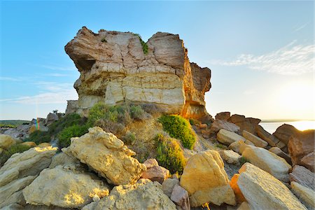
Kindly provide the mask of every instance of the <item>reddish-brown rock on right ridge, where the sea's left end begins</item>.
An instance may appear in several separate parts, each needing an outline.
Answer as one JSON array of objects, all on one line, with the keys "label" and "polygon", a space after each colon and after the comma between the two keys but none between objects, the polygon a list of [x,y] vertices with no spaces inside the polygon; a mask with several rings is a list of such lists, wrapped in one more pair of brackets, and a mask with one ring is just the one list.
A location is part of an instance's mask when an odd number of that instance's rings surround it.
[{"label": "reddish-brown rock on right ridge, where the sea's left end begins", "polygon": [[246,130],[251,134],[256,135],[256,127],[261,120],[257,118],[245,118],[245,116],[235,114],[232,115],[228,121],[239,126],[241,130]]}]

